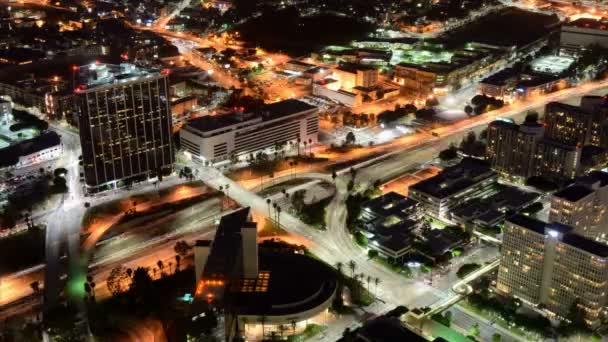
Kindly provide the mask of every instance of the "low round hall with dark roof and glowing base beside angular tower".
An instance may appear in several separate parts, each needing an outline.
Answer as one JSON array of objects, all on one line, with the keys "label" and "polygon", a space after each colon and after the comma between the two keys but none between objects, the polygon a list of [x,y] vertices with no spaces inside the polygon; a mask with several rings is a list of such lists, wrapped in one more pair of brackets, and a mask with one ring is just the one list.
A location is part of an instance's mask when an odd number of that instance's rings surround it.
[{"label": "low round hall with dark roof and glowing base beside angular tower", "polygon": [[227,311],[240,335],[293,334],[330,307],[337,288],[331,267],[297,253],[261,252],[259,257],[258,277],[241,279],[228,297]]}]

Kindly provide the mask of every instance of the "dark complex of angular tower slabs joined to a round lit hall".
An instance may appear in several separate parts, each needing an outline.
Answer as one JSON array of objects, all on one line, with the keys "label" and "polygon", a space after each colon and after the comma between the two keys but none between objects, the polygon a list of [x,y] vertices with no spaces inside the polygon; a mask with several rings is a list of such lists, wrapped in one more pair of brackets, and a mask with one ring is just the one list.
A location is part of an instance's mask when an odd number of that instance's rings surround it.
[{"label": "dark complex of angular tower slabs joined to a round lit hall", "polygon": [[195,299],[222,309],[226,341],[243,338],[262,319],[264,339],[282,325],[301,333],[308,319],[327,311],[337,289],[336,273],[326,264],[259,248],[249,208],[224,215],[213,241],[196,243],[194,258]]}]

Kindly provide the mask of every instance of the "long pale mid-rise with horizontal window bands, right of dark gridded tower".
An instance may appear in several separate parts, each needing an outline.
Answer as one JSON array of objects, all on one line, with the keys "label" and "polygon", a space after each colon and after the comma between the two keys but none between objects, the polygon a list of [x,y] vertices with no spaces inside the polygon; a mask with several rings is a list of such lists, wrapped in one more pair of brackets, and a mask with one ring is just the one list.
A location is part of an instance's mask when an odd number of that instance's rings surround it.
[{"label": "long pale mid-rise with horizontal window bands, right of dark gridded tower", "polygon": [[[253,113],[233,112],[188,121],[180,141],[193,160],[215,164],[232,156],[276,149],[287,143],[317,143],[317,107],[299,100],[285,100]],[[279,147],[280,148],[280,147]]]}]

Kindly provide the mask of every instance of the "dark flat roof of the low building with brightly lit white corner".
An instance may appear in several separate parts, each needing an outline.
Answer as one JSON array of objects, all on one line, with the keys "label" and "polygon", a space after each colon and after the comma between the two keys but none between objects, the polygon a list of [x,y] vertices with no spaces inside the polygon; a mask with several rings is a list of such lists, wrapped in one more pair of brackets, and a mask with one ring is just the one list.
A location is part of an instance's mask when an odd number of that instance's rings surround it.
[{"label": "dark flat roof of the low building with brightly lit white corner", "polygon": [[464,158],[459,164],[445,168],[438,175],[412,185],[410,191],[419,191],[436,198],[444,198],[492,175],[494,175],[494,171],[487,162],[475,158]]}]

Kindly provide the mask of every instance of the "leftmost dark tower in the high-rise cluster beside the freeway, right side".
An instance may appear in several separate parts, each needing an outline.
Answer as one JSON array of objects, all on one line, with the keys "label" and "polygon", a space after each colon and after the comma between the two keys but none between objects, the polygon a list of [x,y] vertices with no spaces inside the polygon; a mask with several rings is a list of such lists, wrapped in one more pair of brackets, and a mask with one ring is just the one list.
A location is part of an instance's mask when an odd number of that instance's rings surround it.
[{"label": "leftmost dark tower in the high-rise cluster beside the freeway, right side", "polygon": [[488,125],[486,156],[492,168],[511,178],[528,178],[534,171],[536,143],[542,138],[543,126],[537,122],[517,125],[497,120]]}]

